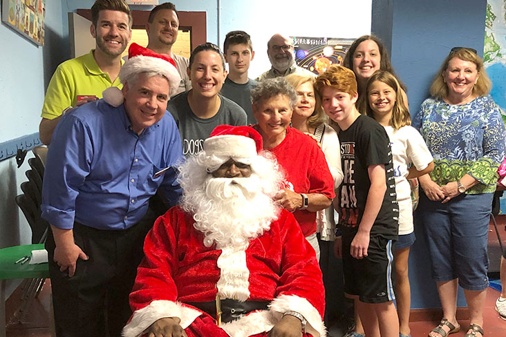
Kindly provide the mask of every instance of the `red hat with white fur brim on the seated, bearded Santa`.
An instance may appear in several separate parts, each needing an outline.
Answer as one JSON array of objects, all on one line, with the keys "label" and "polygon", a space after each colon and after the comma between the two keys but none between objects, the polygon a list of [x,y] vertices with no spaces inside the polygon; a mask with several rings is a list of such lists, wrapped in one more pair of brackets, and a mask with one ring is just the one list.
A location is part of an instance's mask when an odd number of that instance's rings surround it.
[{"label": "red hat with white fur brim on the seated, bearded Santa", "polygon": [[254,158],[263,148],[262,136],[250,126],[219,125],[204,141],[207,156]]}]

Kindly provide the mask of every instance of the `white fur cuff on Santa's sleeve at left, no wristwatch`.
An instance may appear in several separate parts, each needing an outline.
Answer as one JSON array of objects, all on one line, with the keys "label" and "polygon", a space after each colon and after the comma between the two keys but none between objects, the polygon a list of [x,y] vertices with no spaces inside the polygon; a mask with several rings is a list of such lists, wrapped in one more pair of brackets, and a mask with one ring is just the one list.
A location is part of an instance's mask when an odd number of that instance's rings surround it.
[{"label": "white fur cuff on Santa's sleeve at left, no wristwatch", "polygon": [[165,317],[178,317],[181,322],[179,325],[186,329],[191,322],[202,314],[201,311],[185,307],[180,302],[170,300],[153,300],[147,307],[137,310],[133,313],[130,322],[123,328],[122,336],[138,337],[144,333],[148,327],[156,320]]}]

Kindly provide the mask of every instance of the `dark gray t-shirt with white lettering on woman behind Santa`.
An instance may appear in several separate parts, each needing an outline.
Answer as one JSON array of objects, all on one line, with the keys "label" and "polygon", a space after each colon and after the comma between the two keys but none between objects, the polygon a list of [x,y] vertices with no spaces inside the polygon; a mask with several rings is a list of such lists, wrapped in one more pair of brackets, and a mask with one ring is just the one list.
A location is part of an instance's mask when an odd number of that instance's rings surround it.
[{"label": "dark gray t-shirt with white lettering on woman behind Santa", "polygon": [[196,155],[203,149],[204,140],[218,125],[242,126],[247,124],[246,113],[236,103],[218,94],[221,99],[220,108],[216,115],[203,119],[197,117],[188,103],[188,92],[173,97],[167,110],[176,120],[182,143],[182,153],[185,156]]}]

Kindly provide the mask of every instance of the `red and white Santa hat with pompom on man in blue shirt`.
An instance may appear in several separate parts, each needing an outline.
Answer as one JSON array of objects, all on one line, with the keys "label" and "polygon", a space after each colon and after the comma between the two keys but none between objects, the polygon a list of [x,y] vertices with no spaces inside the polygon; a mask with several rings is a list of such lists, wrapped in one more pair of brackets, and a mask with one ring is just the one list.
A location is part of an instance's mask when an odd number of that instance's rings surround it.
[{"label": "red and white Santa hat with pompom on man in blue shirt", "polygon": [[[122,84],[128,80],[131,75],[154,72],[167,78],[170,86],[170,95],[174,95],[179,87],[181,77],[176,68],[176,62],[172,57],[161,55],[153,50],[131,44],[129,48],[129,59],[125,61],[120,70],[120,81]],[[110,87],[102,93],[105,101],[112,106],[120,106],[123,103],[123,94],[117,87]]]}]

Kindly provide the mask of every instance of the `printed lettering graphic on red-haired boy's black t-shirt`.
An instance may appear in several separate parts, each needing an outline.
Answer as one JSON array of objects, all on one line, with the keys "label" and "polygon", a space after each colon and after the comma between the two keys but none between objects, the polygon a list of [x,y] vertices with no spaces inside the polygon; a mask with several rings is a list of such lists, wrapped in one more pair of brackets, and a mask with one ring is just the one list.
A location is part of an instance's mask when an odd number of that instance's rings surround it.
[{"label": "printed lettering graphic on red-haired boy's black t-shirt", "polygon": [[355,194],[355,143],[341,143],[341,163],[344,179],[339,190],[339,222],[343,226],[357,226],[358,208]]}]

